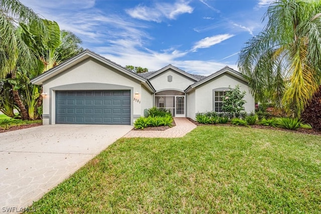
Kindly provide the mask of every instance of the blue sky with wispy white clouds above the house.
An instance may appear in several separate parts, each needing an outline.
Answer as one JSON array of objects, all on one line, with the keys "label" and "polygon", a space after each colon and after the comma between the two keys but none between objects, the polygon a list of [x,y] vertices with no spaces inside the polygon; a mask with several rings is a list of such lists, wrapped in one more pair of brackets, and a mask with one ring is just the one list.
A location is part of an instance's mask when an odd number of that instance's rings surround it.
[{"label": "blue sky with wispy white clouds above the house", "polygon": [[172,64],[207,76],[225,66],[238,70],[238,53],[263,30],[273,0],[20,2],[121,66],[156,71]]}]

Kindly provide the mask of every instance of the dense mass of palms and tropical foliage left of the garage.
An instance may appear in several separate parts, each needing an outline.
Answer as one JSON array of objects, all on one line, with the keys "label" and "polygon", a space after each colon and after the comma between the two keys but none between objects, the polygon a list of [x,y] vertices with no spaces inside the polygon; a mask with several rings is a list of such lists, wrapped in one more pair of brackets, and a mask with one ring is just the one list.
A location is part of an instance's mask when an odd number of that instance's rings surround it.
[{"label": "dense mass of palms and tropical foliage left of the garage", "polygon": [[1,0],[0,29],[0,111],[37,119],[42,88],[30,79],[82,51],[81,40],[15,0]]}]

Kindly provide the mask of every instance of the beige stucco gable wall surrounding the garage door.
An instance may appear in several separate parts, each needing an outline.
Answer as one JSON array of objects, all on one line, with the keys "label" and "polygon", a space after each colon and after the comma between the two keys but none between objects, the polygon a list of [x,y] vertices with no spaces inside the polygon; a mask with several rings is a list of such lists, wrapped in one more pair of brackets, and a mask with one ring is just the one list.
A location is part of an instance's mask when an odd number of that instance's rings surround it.
[{"label": "beige stucco gable wall surrounding the garage door", "polygon": [[49,115],[51,118],[51,124],[55,124],[55,88],[64,88],[64,86],[70,84],[75,84],[70,86],[71,90],[97,90],[95,87],[98,87],[99,90],[130,89],[132,96],[131,100],[133,100],[135,92],[138,91],[140,103],[135,101],[132,102],[132,118],[133,115],[140,115],[143,112],[141,107],[142,103],[144,103],[144,105],[150,105],[150,100],[152,100],[152,95],[147,93],[146,89],[141,86],[140,81],[96,60],[85,60],[44,82],[43,90],[48,94],[43,100],[44,124],[50,124],[50,120],[46,115]]}]

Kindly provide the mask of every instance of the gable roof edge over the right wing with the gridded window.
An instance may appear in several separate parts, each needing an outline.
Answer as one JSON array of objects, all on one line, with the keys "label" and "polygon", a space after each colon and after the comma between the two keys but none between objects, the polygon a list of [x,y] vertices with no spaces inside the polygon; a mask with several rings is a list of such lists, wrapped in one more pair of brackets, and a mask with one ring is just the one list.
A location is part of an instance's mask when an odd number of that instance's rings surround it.
[{"label": "gable roof edge over the right wing with the gridded window", "polygon": [[248,81],[244,78],[244,76],[243,76],[241,73],[239,73],[238,71],[235,71],[233,68],[230,68],[230,67],[228,67],[228,66],[225,66],[224,68],[218,70],[217,72],[211,74],[210,76],[207,76],[207,77],[205,77],[204,79],[199,80],[199,81],[193,83],[193,84],[190,85],[187,89],[185,89],[185,92],[189,92],[189,91],[191,91],[193,88],[196,88],[196,87],[198,87],[198,86],[200,86],[200,85],[203,85],[204,83],[206,83],[206,82],[208,82],[208,81],[210,81],[210,80],[213,80],[213,79],[215,79],[216,77],[218,77],[218,76],[220,76],[220,75],[222,75],[222,74],[224,74],[224,73],[228,73],[228,74],[230,74],[230,75],[232,75],[232,76],[234,76],[234,77],[236,77],[236,78],[238,78],[238,79],[240,79],[240,80],[243,80],[244,82],[247,82],[247,83],[248,83]]}]

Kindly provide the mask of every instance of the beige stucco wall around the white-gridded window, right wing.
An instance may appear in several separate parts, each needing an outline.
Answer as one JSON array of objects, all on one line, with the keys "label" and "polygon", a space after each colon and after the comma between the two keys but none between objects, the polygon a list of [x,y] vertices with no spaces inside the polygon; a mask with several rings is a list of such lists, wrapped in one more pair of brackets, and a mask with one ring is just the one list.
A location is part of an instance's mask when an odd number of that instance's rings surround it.
[{"label": "beige stucco wall around the white-gridded window, right wing", "polygon": [[[246,92],[244,97],[244,100],[247,102],[244,104],[245,111],[247,113],[254,112],[254,97],[251,95],[247,84],[244,81],[225,73],[196,88],[195,113],[213,111],[213,89],[228,88],[229,85],[232,88],[236,85],[240,85],[240,90]],[[189,112],[189,115],[191,115],[190,117],[194,119],[195,113],[193,115],[192,112]]]}]

